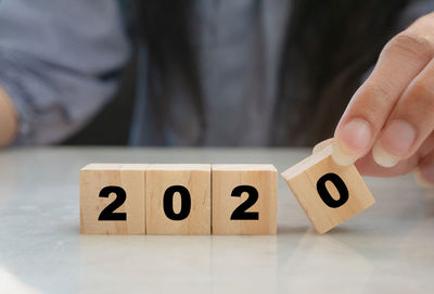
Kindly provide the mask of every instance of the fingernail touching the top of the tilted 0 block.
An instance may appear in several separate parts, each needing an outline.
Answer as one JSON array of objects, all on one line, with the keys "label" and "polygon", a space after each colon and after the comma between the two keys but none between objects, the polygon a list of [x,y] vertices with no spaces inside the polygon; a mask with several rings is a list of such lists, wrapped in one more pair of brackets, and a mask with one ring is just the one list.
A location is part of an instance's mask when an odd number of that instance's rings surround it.
[{"label": "fingernail touching the top of the tilted 0 block", "polygon": [[371,141],[371,127],[361,118],[354,118],[346,123],[333,141],[334,162],[339,165],[354,164],[366,151]]}]

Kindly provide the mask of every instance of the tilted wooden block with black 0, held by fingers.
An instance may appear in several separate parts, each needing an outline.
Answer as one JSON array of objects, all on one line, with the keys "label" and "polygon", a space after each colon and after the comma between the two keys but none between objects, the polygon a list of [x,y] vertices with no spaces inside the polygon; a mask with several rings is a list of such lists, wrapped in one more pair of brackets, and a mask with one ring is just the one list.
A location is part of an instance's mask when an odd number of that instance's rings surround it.
[{"label": "tilted wooden block with black 0, held by fingers", "polygon": [[332,151],[329,145],[282,172],[319,233],[375,203],[356,167],[335,164]]}]

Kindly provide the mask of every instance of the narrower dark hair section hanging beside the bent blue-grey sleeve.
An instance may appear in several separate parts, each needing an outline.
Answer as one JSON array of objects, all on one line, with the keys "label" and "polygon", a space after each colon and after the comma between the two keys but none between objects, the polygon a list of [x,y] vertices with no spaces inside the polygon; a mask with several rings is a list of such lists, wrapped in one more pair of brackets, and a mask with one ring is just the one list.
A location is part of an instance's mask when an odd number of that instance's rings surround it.
[{"label": "narrower dark hair section hanging beside the bent blue-grey sleeve", "polygon": [[[170,99],[173,85],[182,84],[186,101],[196,113],[202,144],[205,127],[202,88],[199,78],[197,60],[191,38],[191,10],[193,1],[183,0],[138,0],[138,42],[145,46],[149,55],[148,92],[152,111],[177,129],[173,122]],[[164,126],[156,126],[163,128]],[[178,132],[182,128],[177,129]],[[164,130],[161,129],[161,133]]]}]

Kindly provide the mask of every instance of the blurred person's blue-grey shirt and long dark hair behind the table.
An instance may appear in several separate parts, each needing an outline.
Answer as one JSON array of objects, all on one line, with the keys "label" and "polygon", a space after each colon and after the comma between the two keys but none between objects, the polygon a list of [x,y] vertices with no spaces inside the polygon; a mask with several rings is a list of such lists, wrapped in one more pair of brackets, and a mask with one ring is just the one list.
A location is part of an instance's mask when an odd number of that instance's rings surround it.
[{"label": "blurred person's blue-grey shirt and long dark hair behind the table", "polygon": [[387,40],[431,7],[4,1],[0,85],[16,145],[309,146],[333,136]]}]

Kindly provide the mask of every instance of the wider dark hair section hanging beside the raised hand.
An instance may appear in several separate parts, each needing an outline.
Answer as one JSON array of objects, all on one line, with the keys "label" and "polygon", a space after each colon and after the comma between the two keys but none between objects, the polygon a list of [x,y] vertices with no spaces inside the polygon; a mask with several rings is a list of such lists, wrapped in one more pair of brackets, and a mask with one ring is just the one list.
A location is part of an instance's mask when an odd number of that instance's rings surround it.
[{"label": "wider dark hair section hanging beside the raised hand", "polygon": [[294,0],[273,142],[311,145],[333,130],[393,33],[405,0]]}]

